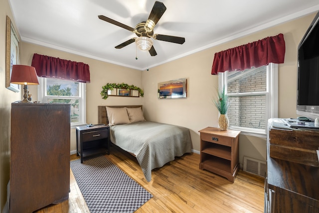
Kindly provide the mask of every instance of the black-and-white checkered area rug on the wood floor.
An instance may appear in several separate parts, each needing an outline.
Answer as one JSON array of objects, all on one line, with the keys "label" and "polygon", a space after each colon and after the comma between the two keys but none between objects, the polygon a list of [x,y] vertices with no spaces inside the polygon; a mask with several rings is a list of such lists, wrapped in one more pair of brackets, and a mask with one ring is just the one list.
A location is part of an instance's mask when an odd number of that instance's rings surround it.
[{"label": "black-and-white checkered area rug on the wood floor", "polygon": [[91,213],[133,213],[153,197],[105,156],[70,166]]}]

